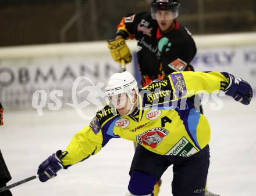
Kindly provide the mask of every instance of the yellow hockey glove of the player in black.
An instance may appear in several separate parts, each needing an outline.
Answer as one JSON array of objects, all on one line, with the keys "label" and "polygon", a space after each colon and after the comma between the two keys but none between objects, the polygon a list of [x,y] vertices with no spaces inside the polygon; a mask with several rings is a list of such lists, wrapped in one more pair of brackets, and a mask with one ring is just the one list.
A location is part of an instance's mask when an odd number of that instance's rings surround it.
[{"label": "yellow hockey glove of the player in black", "polygon": [[111,52],[113,60],[116,61],[116,63],[122,64],[122,60],[124,60],[126,64],[130,63],[131,52],[126,45],[125,39],[118,38],[108,41],[108,48]]}]

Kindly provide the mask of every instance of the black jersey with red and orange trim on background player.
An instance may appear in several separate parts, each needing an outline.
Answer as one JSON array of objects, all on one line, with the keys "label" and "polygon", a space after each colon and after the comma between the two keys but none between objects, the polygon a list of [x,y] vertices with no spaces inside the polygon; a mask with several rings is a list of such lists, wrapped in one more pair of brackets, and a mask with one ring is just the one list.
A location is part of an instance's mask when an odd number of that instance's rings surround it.
[{"label": "black jersey with red and orange trim on background player", "polygon": [[117,35],[137,40],[138,67],[143,86],[174,71],[190,71],[197,48],[187,28],[174,21],[173,30],[162,34],[150,12],[123,17]]}]

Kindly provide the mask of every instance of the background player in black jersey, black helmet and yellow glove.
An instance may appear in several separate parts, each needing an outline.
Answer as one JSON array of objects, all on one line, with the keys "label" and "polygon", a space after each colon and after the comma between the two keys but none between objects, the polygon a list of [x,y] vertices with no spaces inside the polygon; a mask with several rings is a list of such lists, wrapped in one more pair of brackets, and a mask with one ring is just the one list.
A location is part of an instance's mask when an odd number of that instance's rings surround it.
[{"label": "background player in black jersey, black helmet and yellow glove", "polygon": [[[197,48],[189,30],[176,19],[179,6],[179,0],[152,1],[151,12],[123,17],[117,27],[115,40],[109,42],[113,59],[123,64],[131,61],[130,50],[124,39],[137,40],[138,68],[143,86],[175,71],[194,71],[190,61]],[[201,107],[200,111],[202,112]],[[158,192],[157,189],[158,185],[155,193]],[[205,195],[215,195],[207,192]]]}]

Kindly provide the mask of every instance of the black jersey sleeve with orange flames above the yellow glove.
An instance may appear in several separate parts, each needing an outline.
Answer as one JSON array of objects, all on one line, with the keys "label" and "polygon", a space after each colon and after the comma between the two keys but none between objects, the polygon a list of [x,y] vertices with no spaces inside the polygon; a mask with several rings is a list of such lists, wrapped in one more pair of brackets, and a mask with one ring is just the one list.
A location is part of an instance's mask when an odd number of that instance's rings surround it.
[{"label": "black jersey sleeve with orange flames above the yellow glove", "polygon": [[134,39],[137,34],[137,26],[140,23],[141,17],[146,12],[141,12],[138,14],[129,14],[123,17],[118,24],[116,35],[122,35],[124,39]]}]

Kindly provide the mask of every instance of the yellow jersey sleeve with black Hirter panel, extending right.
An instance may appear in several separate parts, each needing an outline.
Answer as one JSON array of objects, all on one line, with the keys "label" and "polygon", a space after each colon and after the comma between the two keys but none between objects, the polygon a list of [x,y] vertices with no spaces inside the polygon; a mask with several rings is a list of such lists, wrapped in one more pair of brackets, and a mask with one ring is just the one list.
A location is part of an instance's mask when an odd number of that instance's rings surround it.
[{"label": "yellow jersey sleeve with black Hirter panel, extending right", "polygon": [[214,93],[225,90],[229,84],[221,72],[182,71],[153,81],[140,91],[143,107],[171,106],[172,101],[189,98],[198,93]]}]

